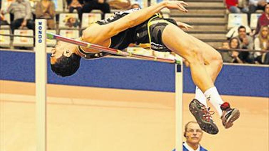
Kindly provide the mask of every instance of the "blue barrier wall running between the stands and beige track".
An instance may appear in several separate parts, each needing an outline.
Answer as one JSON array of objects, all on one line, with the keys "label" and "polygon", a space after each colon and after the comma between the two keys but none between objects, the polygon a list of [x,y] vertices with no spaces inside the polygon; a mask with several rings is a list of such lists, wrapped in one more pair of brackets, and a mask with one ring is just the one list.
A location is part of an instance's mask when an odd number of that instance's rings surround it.
[{"label": "blue barrier wall running between the stands and beige track", "polygon": [[[175,91],[173,64],[117,57],[90,61],[82,59],[81,67],[76,74],[62,78],[50,70],[49,55],[49,84]],[[225,64],[216,80],[216,87],[221,95],[269,97],[268,77],[268,66]],[[1,50],[0,79],[34,82],[35,53]],[[183,81],[183,92],[194,93],[195,85],[187,67],[183,69]]]}]

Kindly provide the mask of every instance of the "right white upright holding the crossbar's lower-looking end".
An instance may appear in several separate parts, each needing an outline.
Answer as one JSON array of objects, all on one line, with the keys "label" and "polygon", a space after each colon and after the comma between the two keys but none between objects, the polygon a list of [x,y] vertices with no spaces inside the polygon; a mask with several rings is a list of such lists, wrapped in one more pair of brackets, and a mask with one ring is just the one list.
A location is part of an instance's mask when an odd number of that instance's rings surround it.
[{"label": "right white upright holding the crossbar's lower-looking end", "polygon": [[175,149],[182,151],[183,63],[175,65]]}]

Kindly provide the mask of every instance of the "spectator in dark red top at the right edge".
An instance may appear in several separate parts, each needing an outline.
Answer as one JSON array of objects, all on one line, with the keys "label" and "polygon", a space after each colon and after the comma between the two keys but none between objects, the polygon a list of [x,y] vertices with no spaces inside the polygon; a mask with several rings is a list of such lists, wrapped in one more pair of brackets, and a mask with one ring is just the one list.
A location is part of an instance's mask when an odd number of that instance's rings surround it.
[{"label": "spectator in dark red top at the right edge", "polygon": [[265,6],[264,12],[258,19],[254,36],[260,32],[261,26],[268,26],[268,25],[269,25],[269,4]]}]

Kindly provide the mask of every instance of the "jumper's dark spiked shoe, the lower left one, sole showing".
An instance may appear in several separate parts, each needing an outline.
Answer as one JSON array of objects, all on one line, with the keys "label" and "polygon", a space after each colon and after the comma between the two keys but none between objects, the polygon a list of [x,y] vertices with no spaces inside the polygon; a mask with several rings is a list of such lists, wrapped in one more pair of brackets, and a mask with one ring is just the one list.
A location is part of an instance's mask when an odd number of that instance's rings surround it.
[{"label": "jumper's dark spiked shoe, the lower left one, sole showing", "polygon": [[219,132],[217,125],[211,117],[211,115],[214,114],[214,111],[209,111],[210,108],[207,109],[206,106],[197,99],[193,99],[190,102],[189,109],[203,131],[209,134],[217,134]]}]

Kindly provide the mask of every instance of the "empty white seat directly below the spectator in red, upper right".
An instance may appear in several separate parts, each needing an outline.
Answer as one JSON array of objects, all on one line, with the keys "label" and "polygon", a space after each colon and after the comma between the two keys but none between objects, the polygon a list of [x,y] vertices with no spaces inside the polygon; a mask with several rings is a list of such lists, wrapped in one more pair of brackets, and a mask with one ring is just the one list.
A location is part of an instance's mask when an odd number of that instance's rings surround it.
[{"label": "empty white seat directly below the spectator in red, upper right", "polygon": [[231,13],[228,16],[228,29],[235,26],[248,26],[248,16],[242,13]]}]

